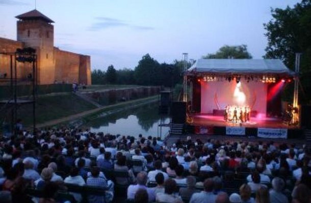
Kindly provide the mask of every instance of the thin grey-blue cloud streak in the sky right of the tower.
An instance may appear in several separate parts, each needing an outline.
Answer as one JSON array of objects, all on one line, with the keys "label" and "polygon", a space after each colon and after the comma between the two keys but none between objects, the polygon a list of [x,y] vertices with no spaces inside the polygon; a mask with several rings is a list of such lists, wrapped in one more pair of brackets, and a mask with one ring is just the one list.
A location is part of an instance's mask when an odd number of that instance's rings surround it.
[{"label": "thin grey-blue cloud streak in the sky right of the tower", "polygon": [[98,31],[101,29],[107,29],[110,27],[128,27],[137,30],[151,30],[153,27],[149,26],[140,26],[140,25],[132,25],[123,20],[108,18],[108,17],[96,17],[97,22],[93,23],[88,30]]}]

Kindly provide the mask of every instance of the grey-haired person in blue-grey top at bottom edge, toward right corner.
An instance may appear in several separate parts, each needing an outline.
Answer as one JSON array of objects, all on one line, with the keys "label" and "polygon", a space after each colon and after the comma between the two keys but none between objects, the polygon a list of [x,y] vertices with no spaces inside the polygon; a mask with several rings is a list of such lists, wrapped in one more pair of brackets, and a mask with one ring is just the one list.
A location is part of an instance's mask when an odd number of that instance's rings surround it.
[{"label": "grey-haired person in blue-grey top at bottom edge, toward right corner", "polygon": [[285,183],[282,179],[276,177],[272,180],[272,189],[270,193],[271,203],[288,203],[289,200],[286,195],[282,193]]}]

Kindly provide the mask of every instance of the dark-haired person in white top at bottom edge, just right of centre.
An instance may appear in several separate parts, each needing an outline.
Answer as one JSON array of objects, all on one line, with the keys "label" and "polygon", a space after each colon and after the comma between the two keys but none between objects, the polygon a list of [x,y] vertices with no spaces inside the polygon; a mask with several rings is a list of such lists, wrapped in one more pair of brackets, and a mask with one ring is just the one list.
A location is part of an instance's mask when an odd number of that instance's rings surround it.
[{"label": "dark-haired person in white top at bottom edge, just right of centre", "polygon": [[164,193],[157,193],[157,195],[155,195],[155,200],[157,202],[182,201],[182,198],[175,194],[177,185],[173,179],[166,180],[164,185]]}]

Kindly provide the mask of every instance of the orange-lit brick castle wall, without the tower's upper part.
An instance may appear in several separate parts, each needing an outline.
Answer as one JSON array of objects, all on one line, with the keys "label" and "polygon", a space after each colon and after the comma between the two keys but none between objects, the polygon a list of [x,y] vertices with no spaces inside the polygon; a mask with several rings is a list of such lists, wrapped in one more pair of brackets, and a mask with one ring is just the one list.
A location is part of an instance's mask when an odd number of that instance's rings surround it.
[{"label": "orange-lit brick castle wall, without the tower's upper part", "polygon": [[[0,38],[0,52],[14,53],[16,49],[24,47],[22,42]],[[53,84],[55,80],[59,83],[91,84],[90,56],[63,51],[56,47],[53,52],[39,49],[37,56],[39,84]],[[12,62],[14,74],[14,57]],[[16,70],[18,78],[27,78],[28,74],[32,73],[32,64],[17,62]],[[0,77],[5,73],[7,78],[10,78],[10,56],[0,54]],[[2,83],[4,84],[6,83]]]}]

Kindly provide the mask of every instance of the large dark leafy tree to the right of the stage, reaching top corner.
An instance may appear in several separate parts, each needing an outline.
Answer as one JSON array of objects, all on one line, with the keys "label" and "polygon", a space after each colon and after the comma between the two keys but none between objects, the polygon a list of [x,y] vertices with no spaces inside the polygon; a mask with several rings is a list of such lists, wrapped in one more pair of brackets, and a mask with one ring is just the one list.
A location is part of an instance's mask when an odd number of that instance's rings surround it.
[{"label": "large dark leafy tree to the right of the stage, reaching top corner", "polygon": [[[268,46],[265,58],[279,58],[292,70],[295,54],[302,53],[300,82],[304,92],[311,91],[311,1],[302,0],[293,8],[271,9],[272,19],[264,24]],[[307,100],[309,95],[305,95]]]}]

